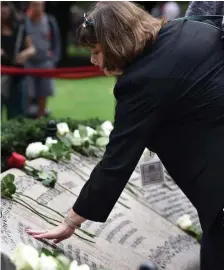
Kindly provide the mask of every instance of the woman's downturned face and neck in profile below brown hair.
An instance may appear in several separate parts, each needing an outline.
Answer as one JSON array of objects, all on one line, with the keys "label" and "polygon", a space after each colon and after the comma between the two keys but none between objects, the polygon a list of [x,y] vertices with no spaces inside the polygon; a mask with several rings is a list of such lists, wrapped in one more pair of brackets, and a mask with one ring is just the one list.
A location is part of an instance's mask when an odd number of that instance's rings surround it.
[{"label": "woman's downturned face and neck in profile below brown hair", "polygon": [[103,55],[103,50],[100,44],[96,44],[96,46],[94,48],[91,48],[90,51],[91,51],[91,63],[94,66],[97,66],[101,70],[103,70],[106,76],[113,76],[113,75],[121,74],[121,72],[108,71],[106,68],[103,68],[104,55]]}]

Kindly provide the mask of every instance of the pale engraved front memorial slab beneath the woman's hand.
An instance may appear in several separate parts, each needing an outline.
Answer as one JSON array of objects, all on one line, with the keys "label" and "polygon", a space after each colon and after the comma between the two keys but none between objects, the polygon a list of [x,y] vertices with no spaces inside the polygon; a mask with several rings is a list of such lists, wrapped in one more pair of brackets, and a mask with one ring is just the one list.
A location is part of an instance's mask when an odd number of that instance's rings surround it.
[{"label": "pale engraved front memorial slab beneath the woman's hand", "polygon": [[[20,170],[11,169],[2,176],[13,173],[16,175],[19,192],[66,215],[95,164],[96,160],[83,158],[81,155],[73,155],[69,163],[56,164],[45,159],[32,161],[33,167],[58,172],[58,183],[54,189],[44,187]],[[136,169],[131,182],[137,185],[140,182],[139,177]],[[151,205],[149,207],[145,199],[146,191],[144,196],[141,195],[143,189],[140,192],[138,189],[135,191],[139,198],[128,189],[123,191],[119,199],[123,204],[116,203],[107,222],[87,221],[83,224],[83,229],[97,235],[95,243],[72,236],[59,244],[59,249],[71,259],[89,264],[91,269],[104,267],[111,270],[135,270],[142,261],[151,259],[160,269],[198,270],[199,245],[196,241],[150,209]],[[31,199],[22,199],[45,216],[62,220]],[[10,254],[19,242],[34,247],[46,245],[27,235],[24,229],[46,229],[51,225],[23,205],[3,199],[1,219],[2,245],[6,253]],[[77,234],[88,238],[80,231]],[[189,262],[193,268],[188,269]]]}]

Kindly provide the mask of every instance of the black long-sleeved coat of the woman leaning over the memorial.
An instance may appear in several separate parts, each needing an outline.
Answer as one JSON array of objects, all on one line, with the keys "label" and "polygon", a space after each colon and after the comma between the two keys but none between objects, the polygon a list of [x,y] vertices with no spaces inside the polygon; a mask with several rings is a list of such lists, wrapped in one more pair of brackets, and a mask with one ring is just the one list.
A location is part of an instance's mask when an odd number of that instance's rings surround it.
[{"label": "black long-sleeved coat of the woman leaning over the memorial", "polygon": [[204,23],[173,21],[124,70],[114,130],[73,210],[104,222],[145,147],[199,213],[203,230],[224,206],[224,41]]}]

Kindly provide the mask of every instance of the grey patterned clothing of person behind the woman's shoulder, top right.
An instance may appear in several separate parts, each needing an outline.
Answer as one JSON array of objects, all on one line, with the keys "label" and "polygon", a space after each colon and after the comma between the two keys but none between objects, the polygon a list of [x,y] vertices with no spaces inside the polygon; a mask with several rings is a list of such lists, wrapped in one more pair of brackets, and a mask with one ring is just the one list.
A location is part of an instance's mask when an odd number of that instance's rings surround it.
[{"label": "grey patterned clothing of person behind the woman's shoulder, top right", "polygon": [[[194,15],[222,15],[224,16],[224,1],[191,1],[186,16]],[[214,23],[224,29],[223,19],[215,19]]]}]

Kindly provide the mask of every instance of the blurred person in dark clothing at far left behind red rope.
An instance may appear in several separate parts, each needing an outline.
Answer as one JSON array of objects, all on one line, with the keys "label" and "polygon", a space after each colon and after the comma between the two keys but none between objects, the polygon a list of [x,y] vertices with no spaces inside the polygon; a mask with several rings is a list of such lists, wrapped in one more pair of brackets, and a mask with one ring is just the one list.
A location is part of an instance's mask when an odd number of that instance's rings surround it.
[{"label": "blurred person in dark clothing at far left behind red rope", "polygon": [[[23,67],[35,54],[32,41],[19,23],[8,2],[1,2],[1,64]],[[1,107],[6,107],[8,119],[25,115],[25,89],[23,76],[3,75],[1,78]]]}]

